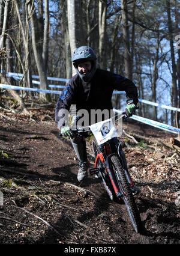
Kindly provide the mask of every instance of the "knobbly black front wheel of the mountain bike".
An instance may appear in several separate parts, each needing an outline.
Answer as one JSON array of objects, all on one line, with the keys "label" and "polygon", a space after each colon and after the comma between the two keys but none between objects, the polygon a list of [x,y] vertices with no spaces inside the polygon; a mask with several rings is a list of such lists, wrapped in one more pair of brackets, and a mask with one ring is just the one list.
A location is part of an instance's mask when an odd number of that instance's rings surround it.
[{"label": "knobbly black front wheel of the mountain bike", "polygon": [[141,220],[139,212],[137,210],[136,203],[134,201],[133,194],[131,192],[130,184],[128,183],[127,177],[125,175],[124,169],[122,168],[121,162],[118,156],[114,155],[111,157],[112,167],[115,171],[116,178],[119,184],[119,189],[122,192],[122,199],[128,210],[128,215],[130,216],[131,222],[137,233],[141,230]]}]

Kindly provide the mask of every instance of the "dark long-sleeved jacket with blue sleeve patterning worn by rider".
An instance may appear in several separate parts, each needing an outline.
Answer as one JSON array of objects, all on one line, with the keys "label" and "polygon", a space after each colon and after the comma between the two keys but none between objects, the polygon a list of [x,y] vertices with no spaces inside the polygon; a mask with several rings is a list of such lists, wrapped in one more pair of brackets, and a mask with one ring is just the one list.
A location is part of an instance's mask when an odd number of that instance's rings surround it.
[{"label": "dark long-sleeved jacket with blue sleeve patterning worn by rider", "polygon": [[[133,99],[137,105],[137,88],[132,81],[112,72],[97,69],[90,82],[84,82],[79,75],[73,76],[59,96],[55,109],[55,121],[58,124],[58,111],[70,110],[71,105],[79,109],[112,109],[113,90],[125,91],[127,101]],[[61,124],[62,125],[62,124]],[[59,126],[59,125],[58,125]]]}]

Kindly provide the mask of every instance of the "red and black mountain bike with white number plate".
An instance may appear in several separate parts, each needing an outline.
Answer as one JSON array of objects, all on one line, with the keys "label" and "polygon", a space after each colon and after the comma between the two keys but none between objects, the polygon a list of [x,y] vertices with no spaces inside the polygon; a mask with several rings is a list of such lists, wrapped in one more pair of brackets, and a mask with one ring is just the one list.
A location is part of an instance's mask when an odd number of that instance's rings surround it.
[{"label": "red and black mountain bike with white number plate", "polygon": [[[126,119],[125,113],[122,118]],[[125,153],[118,139],[112,120],[105,120],[89,126],[92,132],[92,150],[95,157],[94,168],[89,169],[91,175],[100,178],[110,200],[122,202],[137,233],[141,231],[141,219],[133,196],[134,184],[127,168]],[[71,130],[73,136],[85,136],[86,132]]]}]

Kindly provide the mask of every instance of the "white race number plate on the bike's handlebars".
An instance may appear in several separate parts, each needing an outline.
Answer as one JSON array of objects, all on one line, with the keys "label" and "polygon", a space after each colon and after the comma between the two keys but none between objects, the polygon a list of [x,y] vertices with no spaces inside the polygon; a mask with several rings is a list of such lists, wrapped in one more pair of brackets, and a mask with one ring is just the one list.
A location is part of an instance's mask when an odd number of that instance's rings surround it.
[{"label": "white race number plate on the bike's handlebars", "polygon": [[111,119],[92,124],[89,127],[94,134],[98,145],[109,141],[109,139],[118,137],[118,133],[116,132],[115,126],[113,125]]}]

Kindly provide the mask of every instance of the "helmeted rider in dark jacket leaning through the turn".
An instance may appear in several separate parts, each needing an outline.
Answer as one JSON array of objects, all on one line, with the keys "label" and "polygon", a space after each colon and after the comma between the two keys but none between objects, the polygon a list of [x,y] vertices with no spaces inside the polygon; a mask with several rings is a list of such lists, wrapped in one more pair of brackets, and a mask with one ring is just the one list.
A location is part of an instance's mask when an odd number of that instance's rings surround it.
[{"label": "helmeted rider in dark jacket leaning through the turn", "polygon": [[[115,73],[97,68],[97,57],[94,50],[89,46],[81,46],[74,50],[72,62],[77,74],[68,81],[56,103],[55,121],[62,135],[70,135],[70,127],[64,121],[64,109],[70,110],[71,105],[76,105],[76,110],[86,109],[112,109],[113,90],[125,91],[127,97],[127,107],[125,112],[128,117],[133,115],[137,99],[137,88],[130,79]],[[88,177],[88,163],[86,154],[85,138],[71,139],[77,159],[79,169],[77,180],[82,181]]]}]

